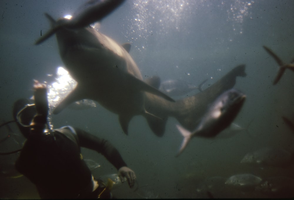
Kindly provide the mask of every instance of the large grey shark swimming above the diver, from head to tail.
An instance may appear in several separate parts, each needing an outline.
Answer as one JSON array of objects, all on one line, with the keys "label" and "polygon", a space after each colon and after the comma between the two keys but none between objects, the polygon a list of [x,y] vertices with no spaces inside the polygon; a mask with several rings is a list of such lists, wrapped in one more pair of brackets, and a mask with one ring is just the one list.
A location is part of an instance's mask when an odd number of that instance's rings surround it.
[{"label": "large grey shark swimming above the diver, from head to tail", "polygon": [[[98,12],[99,9],[101,6],[95,4],[90,10]],[[61,59],[69,74],[77,81],[76,88],[57,105],[54,114],[75,101],[92,99],[118,114],[124,133],[128,134],[132,117],[142,115],[152,131],[162,136],[168,116],[176,117],[186,129],[194,129],[197,125],[195,119],[203,115],[206,106],[223,91],[232,88],[237,76],[245,76],[245,66],[237,66],[202,93],[174,102],[153,87],[152,81],[143,81],[138,66],[128,54],[130,44],[119,45],[91,26],[80,27],[80,24],[93,22],[93,14],[86,10],[78,15],[82,17],[73,17],[78,21],[76,27],[70,19],[55,21],[48,14],[46,16],[52,28],[36,44],[55,33]]]}]

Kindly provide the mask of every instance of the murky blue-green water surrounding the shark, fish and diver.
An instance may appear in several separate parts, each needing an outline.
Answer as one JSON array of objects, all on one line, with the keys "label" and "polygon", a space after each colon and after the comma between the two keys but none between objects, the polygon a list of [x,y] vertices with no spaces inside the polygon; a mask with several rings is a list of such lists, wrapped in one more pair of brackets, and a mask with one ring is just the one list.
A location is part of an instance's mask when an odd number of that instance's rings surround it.
[{"label": "murky blue-green water surrounding the shark, fish and diver", "polygon": [[[0,1],[0,119],[11,120],[16,99],[32,96],[33,79],[47,80],[63,66],[55,37],[39,46],[34,41],[49,29],[44,12],[55,19],[73,14],[82,1]],[[182,136],[170,118],[162,138],[155,136],[146,120],[136,116],[123,134],[117,115],[101,106],[88,110],[65,109],[53,116],[55,128],[78,126],[111,141],[128,166],[136,172],[141,188],[127,184],[113,191],[118,198],[208,198],[199,185],[213,176],[228,178],[252,173],[261,178],[294,178],[293,164],[260,169],[240,164],[243,156],[261,147],[287,148],[293,131],[281,116],[294,121],[293,77],[286,70],[273,86],[277,64],[263,49],[270,47],[285,62],[294,58],[294,1],[137,1],[128,0],[101,21],[99,31],[118,43],[131,42],[131,56],[142,76],[162,80],[183,79],[207,88],[238,64],[246,64],[247,77],[237,78],[235,88],[247,95],[235,122],[248,131],[229,139],[195,138],[178,158]],[[194,93],[188,94],[193,95]],[[116,97],[119,98],[119,97]],[[5,133],[1,129],[1,134]],[[17,133],[17,131],[15,131]],[[20,139],[21,140],[21,139]],[[1,151],[18,148],[12,140],[1,143]],[[101,167],[98,177],[116,169],[96,152],[83,149],[83,156]],[[1,169],[17,155],[1,156]],[[46,173],[46,171],[44,171]],[[3,173],[2,173],[3,175]],[[214,197],[271,197],[258,191],[238,189],[211,192]],[[141,196],[140,196],[141,195]],[[0,198],[39,198],[26,178],[0,177]]]}]

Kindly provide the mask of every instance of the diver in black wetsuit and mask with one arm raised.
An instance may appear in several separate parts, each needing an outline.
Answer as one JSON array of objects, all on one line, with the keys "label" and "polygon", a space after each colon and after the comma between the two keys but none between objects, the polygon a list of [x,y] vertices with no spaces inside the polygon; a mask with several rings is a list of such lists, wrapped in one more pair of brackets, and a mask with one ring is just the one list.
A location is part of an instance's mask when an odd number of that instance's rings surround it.
[{"label": "diver in black wetsuit and mask with one arm raised", "polygon": [[35,104],[32,101],[19,99],[14,103],[14,119],[26,137],[15,167],[36,185],[42,199],[112,197],[108,184],[98,183],[93,178],[81,155],[81,147],[103,154],[116,167],[121,181],[126,178],[130,188],[134,186],[134,171],[107,140],[71,126],[50,129],[45,84],[35,81]]}]

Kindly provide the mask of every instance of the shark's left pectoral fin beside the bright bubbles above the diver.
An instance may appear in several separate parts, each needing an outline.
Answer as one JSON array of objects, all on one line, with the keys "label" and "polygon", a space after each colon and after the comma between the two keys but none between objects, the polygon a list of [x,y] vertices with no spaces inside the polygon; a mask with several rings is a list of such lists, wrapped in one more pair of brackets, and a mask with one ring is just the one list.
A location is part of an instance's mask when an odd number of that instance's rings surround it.
[{"label": "shark's left pectoral fin beside the bright bubbles above the diver", "polygon": [[60,113],[64,108],[66,108],[69,104],[75,101],[79,101],[81,99],[87,99],[87,96],[84,91],[85,90],[82,86],[77,85],[76,88],[73,91],[71,91],[71,93],[69,93],[69,95],[67,95],[65,99],[63,99],[58,104],[58,106],[56,106],[56,108],[53,111],[53,114]]}]

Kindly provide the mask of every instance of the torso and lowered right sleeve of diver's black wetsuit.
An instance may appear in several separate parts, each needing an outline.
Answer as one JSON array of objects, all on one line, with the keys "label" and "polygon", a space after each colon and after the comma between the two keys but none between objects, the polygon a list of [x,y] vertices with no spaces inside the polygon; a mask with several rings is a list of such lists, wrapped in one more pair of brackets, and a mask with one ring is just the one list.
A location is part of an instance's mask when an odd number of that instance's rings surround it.
[{"label": "torso and lowered right sleeve of diver's black wetsuit", "polygon": [[36,185],[41,198],[88,198],[81,191],[91,183],[92,174],[80,147],[103,154],[116,169],[127,166],[107,140],[69,127],[50,134],[30,134],[15,166]]}]

